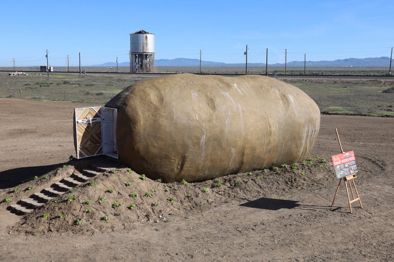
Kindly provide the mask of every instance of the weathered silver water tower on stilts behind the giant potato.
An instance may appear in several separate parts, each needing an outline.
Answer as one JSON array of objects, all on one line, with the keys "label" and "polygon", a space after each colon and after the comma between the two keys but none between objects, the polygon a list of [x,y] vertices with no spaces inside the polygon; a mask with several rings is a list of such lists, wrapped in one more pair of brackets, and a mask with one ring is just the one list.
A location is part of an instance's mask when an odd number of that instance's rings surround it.
[{"label": "weathered silver water tower on stilts behind the giant potato", "polygon": [[144,30],[130,34],[131,72],[155,71],[155,35]]}]

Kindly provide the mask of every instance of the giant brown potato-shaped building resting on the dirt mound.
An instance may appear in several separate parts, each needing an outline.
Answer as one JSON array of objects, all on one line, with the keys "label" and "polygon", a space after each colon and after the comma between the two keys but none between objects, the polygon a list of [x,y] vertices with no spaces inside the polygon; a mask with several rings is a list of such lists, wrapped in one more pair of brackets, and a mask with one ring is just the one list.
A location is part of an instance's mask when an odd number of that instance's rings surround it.
[{"label": "giant brown potato-shaped building resting on the dirt mound", "polygon": [[165,182],[202,181],[307,157],[320,126],[297,87],[256,75],[169,75],[127,87],[118,108],[119,158]]}]

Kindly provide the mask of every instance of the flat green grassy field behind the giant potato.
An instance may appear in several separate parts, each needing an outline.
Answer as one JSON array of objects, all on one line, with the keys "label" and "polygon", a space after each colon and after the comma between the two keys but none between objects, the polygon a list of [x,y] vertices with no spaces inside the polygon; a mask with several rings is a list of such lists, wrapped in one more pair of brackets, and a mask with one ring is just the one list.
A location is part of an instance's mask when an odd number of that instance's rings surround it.
[{"label": "flat green grassy field behind the giant potato", "polygon": [[[0,97],[105,104],[125,87],[157,75],[0,74]],[[325,114],[394,116],[393,80],[280,78],[307,93]]]}]

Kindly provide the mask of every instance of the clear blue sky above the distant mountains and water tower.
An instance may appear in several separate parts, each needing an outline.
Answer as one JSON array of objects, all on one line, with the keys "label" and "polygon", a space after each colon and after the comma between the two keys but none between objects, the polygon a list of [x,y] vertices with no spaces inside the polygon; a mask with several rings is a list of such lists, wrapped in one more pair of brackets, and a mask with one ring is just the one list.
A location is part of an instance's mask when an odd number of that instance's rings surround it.
[{"label": "clear blue sky above the distant mountains and water tower", "polygon": [[[145,3],[144,3],[145,2]],[[130,33],[154,33],[156,59],[268,63],[389,57],[393,0],[0,0],[0,66],[129,61]]]}]

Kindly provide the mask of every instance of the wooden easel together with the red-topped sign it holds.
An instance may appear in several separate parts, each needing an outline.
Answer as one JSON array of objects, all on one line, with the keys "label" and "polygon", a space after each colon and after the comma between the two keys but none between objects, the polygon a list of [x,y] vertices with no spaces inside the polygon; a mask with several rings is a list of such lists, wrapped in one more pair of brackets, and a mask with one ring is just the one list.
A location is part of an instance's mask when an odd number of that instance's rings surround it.
[{"label": "wooden easel together with the red-topped sign it holds", "polygon": [[[335,128],[335,132],[336,132],[336,136],[338,138],[339,146],[341,148],[342,153],[331,156],[332,165],[334,166],[336,178],[339,179],[338,187],[336,188],[336,192],[334,195],[334,199],[332,200],[331,206],[334,204],[336,194],[338,193],[339,186],[341,185],[341,182],[343,180],[345,182],[346,194],[348,196],[350,213],[353,213],[353,211],[352,211],[352,203],[353,202],[359,201],[360,206],[362,208],[359,192],[357,191],[356,183],[354,182],[354,179],[357,177],[356,174],[358,173],[357,164],[356,164],[356,156],[355,156],[353,150],[349,151],[349,152],[345,152],[343,150],[342,145],[341,145],[341,141],[339,140],[338,130],[336,128]],[[346,181],[349,184],[350,193],[352,194],[353,200],[350,200],[348,185],[346,184]],[[352,189],[352,185],[350,184],[350,181],[353,182],[353,187],[356,191],[357,198],[355,198],[353,195],[353,189]]]}]

